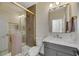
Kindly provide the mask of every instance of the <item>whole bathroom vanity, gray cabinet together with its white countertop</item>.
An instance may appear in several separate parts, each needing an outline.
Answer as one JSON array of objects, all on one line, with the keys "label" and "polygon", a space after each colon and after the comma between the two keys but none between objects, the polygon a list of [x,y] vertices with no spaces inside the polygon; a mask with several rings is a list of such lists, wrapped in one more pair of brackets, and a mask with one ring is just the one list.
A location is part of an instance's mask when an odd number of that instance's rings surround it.
[{"label": "whole bathroom vanity, gray cabinet together with its white countertop", "polygon": [[76,56],[78,52],[76,42],[64,41],[62,38],[48,36],[43,43],[45,56]]}]

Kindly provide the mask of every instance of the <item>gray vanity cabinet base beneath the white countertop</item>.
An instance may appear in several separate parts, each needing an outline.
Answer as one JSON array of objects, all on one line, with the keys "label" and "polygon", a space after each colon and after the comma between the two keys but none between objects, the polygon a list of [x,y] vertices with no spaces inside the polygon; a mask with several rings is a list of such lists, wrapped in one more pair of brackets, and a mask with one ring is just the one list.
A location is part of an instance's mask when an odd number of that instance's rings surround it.
[{"label": "gray vanity cabinet base beneath the white countertop", "polygon": [[45,56],[75,56],[76,48],[44,42]]}]

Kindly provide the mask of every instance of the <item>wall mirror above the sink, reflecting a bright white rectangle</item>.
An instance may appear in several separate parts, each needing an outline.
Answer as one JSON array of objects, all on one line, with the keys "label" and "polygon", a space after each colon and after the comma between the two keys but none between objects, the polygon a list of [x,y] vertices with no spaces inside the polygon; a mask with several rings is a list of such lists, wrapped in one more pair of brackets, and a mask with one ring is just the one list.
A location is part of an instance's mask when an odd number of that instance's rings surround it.
[{"label": "wall mirror above the sink, reflecting a bright white rectangle", "polygon": [[[66,7],[60,7],[55,10],[49,10],[50,31],[65,32]],[[51,30],[52,29],[52,30]]]}]

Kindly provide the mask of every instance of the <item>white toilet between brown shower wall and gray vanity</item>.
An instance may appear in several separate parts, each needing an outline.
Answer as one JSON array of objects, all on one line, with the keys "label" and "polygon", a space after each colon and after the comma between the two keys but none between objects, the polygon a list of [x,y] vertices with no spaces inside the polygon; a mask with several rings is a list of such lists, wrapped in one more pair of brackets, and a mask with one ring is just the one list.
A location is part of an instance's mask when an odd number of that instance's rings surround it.
[{"label": "white toilet between brown shower wall and gray vanity", "polygon": [[43,46],[43,38],[37,39],[36,46],[30,48],[28,52],[28,56],[39,56],[39,52],[42,46]]}]

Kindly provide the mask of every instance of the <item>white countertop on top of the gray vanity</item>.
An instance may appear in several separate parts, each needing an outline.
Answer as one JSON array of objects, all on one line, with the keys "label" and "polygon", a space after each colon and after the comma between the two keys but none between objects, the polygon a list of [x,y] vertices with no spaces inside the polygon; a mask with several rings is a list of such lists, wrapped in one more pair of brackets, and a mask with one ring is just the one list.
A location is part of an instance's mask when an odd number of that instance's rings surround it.
[{"label": "white countertop on top of the gray vanity", "polygon": [[60,39],[60,38],[54,38],[52,36],[46,37],[43,40],[43,42],[50,42],[50,43],[54,43],[54,44],[65,45],[65,46],[70,46],[70,47],[74,47],[74,48],[79,49],[79,44],[76,43],[75,41],[74,42],[68,42],[68,41],[65,41],[65,40]]}]

